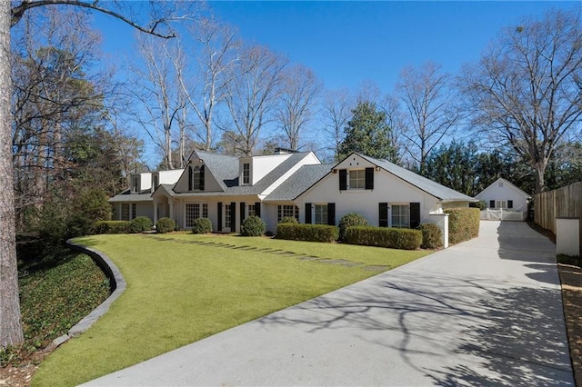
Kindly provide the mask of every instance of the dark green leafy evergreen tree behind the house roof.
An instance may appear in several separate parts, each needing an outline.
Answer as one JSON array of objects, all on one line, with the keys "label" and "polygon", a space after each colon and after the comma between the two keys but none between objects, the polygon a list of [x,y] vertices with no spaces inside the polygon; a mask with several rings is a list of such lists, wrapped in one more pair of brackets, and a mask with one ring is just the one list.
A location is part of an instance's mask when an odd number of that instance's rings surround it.
[{"label": "dark green leafy evergreen tree behind the house roof", "polygon": [[345,128],[346,138],[339,146],[340,159],[358,152],[396,161],[396,149],[391,142],[391,129],[386,124],[386,112],[378,110],[373,102],[360,101],[352,114]]}]

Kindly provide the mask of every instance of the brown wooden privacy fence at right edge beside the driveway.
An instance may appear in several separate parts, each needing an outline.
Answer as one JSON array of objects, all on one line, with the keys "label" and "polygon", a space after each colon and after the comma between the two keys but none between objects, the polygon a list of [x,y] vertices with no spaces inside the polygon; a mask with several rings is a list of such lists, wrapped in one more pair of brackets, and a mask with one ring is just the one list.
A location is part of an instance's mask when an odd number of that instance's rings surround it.
[{"label": "brown wooden privacy fence at right edge beside the driveway", "polygon": [[534,221],[556,233],[556,218],[582,219],[582,182],[534,195]]}]

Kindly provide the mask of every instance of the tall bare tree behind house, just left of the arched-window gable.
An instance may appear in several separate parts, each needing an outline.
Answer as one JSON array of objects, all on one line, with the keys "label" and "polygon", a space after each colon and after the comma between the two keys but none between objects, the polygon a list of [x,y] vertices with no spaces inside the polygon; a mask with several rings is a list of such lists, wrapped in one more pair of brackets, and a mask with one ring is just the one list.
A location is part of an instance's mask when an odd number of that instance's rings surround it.
[{"label": "tall bare tree behind house, just left of the arched-window gable", "polygon": [[[180,165],[180,161],[173,160],[172,145],[176,138],[174,129],[186,107],[186,96],[179,86],[185,59],[174,40],[159,42],[154,39],[155,36],[148,35],[139,37],[140,60],[132,66],[135,81],[130,87],[140,107],[135,111],[135,120],[161,151],[164,168],[172,169],[175,164]],[[184,128],[184,123],[180,127]],[[182,143],[179,139],[178,144]]]}]

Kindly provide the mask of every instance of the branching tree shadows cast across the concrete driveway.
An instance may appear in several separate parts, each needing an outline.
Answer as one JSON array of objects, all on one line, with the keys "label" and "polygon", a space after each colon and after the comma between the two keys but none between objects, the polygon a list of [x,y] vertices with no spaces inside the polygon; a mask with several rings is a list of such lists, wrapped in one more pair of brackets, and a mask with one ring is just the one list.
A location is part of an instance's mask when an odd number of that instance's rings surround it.
[{"label": "branching tree shadows cast across the concrete driveway", "polygon": [[408,374],[410,384],[573,385],[559,297],[554,289],[499,286],[477,275],[385,273],[260,323],[292,326],[312,335],[313,345],[333,348],[319,341],[322,332],[326,341],[333,332],[360,343],[379,354],[376,369],[397,364],[399,375],[386,372],[386,384],[406,382]]}]

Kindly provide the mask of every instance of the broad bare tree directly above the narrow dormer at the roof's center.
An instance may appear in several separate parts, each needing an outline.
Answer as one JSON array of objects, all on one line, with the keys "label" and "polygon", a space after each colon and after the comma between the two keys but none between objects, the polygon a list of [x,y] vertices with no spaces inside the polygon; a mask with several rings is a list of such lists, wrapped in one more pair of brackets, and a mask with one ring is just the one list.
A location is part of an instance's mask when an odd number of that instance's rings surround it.
[{"label": "broad bare tree directly above the narrow dormer at the roof's center", "polygon": [[243,49],[228,84],[226,104],[230,111],[234,132],[242,143],[239,150],[252,155],[263,127],[273,120],[281,71],[286,59],[259,45]]}]

